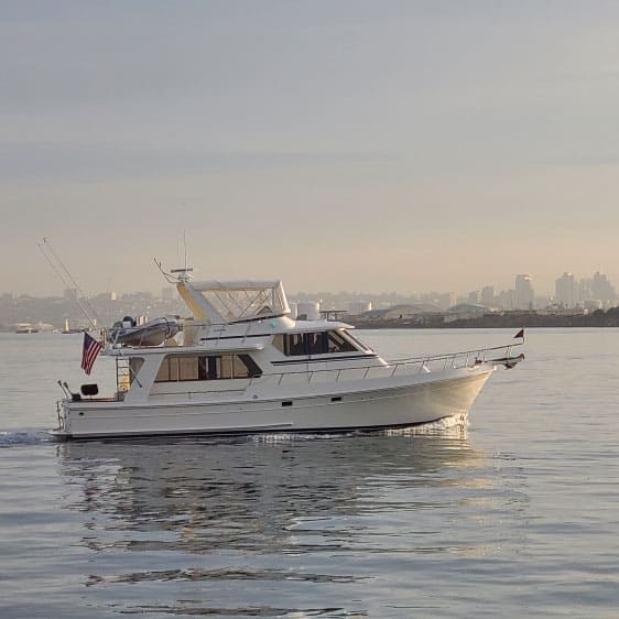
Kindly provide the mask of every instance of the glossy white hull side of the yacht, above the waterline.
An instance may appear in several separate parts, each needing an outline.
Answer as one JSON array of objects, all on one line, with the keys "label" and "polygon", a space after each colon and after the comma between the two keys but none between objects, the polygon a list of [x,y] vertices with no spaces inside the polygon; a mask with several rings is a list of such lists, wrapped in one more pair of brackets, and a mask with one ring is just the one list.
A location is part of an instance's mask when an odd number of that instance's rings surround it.
[{"label": "glossy white hull side of the yacht, above the waterline", "polygon": [[[253,432],[317,432],[380,428],[433,422],[466,413],[495,367],[481,365],[436,373],[417,373],[362,384],[295,385],[290,397],[258,384],[220,393],[214,401],[148,399],[142,402],[82,400],[62,402],[58,438],[229,434]],[[294,393],[294,395],[292,395]],[[178,394],[181,395],[181,394]]]}]

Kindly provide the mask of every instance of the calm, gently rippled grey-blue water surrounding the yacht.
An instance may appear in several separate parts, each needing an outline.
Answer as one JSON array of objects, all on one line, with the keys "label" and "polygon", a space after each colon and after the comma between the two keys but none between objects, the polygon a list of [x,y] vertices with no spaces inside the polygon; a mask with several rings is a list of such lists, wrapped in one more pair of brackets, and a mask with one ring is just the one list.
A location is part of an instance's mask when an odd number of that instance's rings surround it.
[{"label": "calm, gently rippled grey-blue water surrounding the yacht", "polygon": [[467,427],[54,444],[80,343],[0,334],[2,619],[619,616],[619,330],[531,329]]}]

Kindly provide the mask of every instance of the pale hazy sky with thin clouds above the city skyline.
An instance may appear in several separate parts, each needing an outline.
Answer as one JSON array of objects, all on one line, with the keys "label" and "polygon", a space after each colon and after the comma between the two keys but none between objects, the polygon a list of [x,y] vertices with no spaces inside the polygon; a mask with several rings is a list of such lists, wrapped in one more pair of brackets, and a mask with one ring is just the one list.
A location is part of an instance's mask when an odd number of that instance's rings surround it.
[{"label": "pale hazy sky with thin clouds above the city skyline", "polygon": [[0,0],[0,292],[619,287],[619,3]]}]

